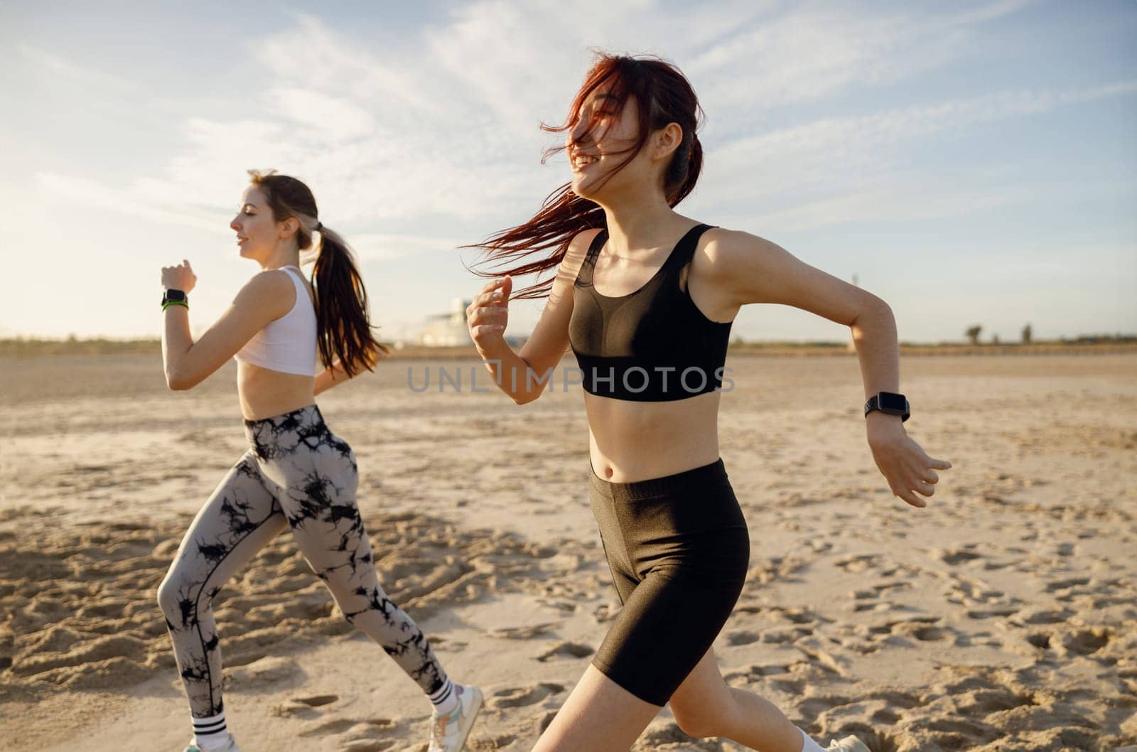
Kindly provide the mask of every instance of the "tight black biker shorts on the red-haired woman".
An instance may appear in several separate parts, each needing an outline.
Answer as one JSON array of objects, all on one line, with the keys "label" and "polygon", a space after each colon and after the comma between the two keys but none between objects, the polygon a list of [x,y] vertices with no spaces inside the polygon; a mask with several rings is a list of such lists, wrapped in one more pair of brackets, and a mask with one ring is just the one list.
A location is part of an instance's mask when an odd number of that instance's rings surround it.
[{"label": "tight black biker shorts on the red-haired woman", "polygon": [[[591,463],[589,463],[591,469]],[[742,590],[750,537],[720,457],[615,484],[591,470],[589,497],[623,608],[592,660],[664,705],[709,650]]]}]

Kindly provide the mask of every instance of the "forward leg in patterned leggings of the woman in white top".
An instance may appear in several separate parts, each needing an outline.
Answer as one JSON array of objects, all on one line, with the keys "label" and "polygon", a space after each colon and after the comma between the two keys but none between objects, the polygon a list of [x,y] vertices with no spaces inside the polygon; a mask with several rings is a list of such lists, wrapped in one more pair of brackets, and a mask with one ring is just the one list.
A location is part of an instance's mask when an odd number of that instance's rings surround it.
[{"label": "forward leg in patterned leggings of the woman in white top", "polygon": [[213,600],[287,526],[251,452],[222,479],[190,523],[158,586],[158,604],[194,718],[222,712],[221,646]]}]

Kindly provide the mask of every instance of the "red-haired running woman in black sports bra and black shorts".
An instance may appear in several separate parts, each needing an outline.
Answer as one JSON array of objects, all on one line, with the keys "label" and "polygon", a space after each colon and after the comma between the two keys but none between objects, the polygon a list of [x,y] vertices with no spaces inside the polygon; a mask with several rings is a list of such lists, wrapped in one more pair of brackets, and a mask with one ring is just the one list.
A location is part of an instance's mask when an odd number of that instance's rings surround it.
[{"label": "red-haired running woman in black sports bra and black shorts", "polygon": [[[582,370],[589,496],[623,603],[539,752],[622,752],[665,703],[692,736],[763,752],[822,749],[766,700],[728,687],[711,648],[749,559],[717,436],[741,306],[779,303],[852,328],[871,398],[869,446],[896,496],[923,507],[916,494],[931,496],[936,470],[951,468],[901,425],[907,406],[896,394],[896,328],[883,300],[767,240],[674,210],[703,165],[698,113],[674,66],[601,56],[567,122],[547,129],[566,132],[572,181],[528,223],[479,243],[498,268],[514,264],[467,308],[499,388],[518,404],[537,399],[568,347]],[[513,295],[514,274],[553,267],[554,279]],[[546,292],[514,353],[504,339],[509,298]],[[829,749],[868,752],[855,736]]]}]

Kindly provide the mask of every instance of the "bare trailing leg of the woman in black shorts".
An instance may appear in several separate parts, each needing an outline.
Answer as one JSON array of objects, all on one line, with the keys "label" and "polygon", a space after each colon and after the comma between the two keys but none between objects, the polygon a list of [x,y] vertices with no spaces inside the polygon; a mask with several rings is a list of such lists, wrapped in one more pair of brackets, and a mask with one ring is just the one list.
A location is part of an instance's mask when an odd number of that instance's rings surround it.
[{"label": "bare trailing leg of the woman in black shorts", "polygon": [[773,703],[753,692],[728,687],[708,650],[671,700],[684,734],[721,736],[762,752],[802,752],[804,737]]}]

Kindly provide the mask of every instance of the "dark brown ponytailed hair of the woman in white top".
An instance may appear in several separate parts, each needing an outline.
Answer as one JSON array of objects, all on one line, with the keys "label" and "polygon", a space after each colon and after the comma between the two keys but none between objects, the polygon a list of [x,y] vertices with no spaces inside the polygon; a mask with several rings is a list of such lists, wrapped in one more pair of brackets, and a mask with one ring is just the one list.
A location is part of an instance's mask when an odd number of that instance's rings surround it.
[{"label": "dark brown ponytailed hair of the woman in white top", "polygon": [[[275,170],[250,170],[252,184],[265,195],[273,218],[300,222],[297,245],[312,248],[319,212],[312,190],[296,177],[279,175]],[[348,375],[375,367],[377,353],[390,350],[372,334],[367,292],[347,241],[326,225],[319,229],[319,247],[312,267],[312,288],[316,303],[316,342],[319,360],[331,366],[337,360]]]}]

